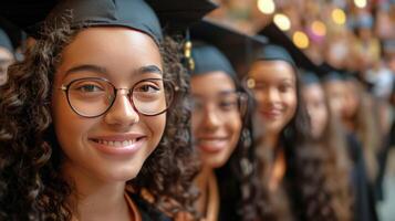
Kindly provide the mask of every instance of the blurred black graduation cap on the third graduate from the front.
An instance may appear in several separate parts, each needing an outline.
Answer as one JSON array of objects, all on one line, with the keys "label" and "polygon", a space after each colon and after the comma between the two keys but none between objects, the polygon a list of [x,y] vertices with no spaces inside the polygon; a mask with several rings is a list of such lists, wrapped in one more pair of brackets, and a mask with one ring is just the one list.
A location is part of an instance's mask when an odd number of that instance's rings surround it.
[{"label": "blurred black graduation cap on the third graduate from the front", "polygon": [[258,34],[269,39],[269,42],[274,45],[268,45],[266,49],[257,54],[261,59],[268,60],[283,60],[293,64],[297,69],[310,71],[319,75],[323,74],[323,71],[312,62],[298,46],[291,41],[291,39],[281,31],[273,22],[264,27]]}]

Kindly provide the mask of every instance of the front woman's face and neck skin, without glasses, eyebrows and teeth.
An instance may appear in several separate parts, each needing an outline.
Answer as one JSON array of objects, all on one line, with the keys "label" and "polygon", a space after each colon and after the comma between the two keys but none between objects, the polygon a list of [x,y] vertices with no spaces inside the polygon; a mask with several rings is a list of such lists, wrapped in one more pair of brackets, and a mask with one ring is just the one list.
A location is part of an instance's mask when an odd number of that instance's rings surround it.
[{"label": "front woman's face and neck skin, without glasses, eyebrows and teeth", "polygon": [[[108,39],[112,40],[108,46]],[[81,65],[95,65],[98,70],[71,69]],[[145,71],[142,67],[154,65],[162,70],[160,53],[155,42],[146,34],[124,28],[91,28],[80,32],[63,53],[54,77],[52,115],[59,144],[64,152],[63,173],[75,182],[81,218],[115,219],[119,212],[116,206],[124,202],[125,183],[137,176],[146,158],[158,145],[164,133],[166,115],[143,116],[132,106],[128,97],[118,92],[112,108],[104,115],[84,118],[69,106],[66,95],[58,90],[81,77],[105,77],[117,88],[131,88],[136,82],[162,78],[160,71]],[[104,71],[105,70],[105,71]],[[103,151],[96,139],[128,140],[138,137],[138,148],[133,152]],[[105,208],[104,196],[114,201],[115,207]],[[116,201],[118,201],[116,203]],[[92,206],[92,202],[96,204]],[[98,202],[98,203],[97,203]],[[122,204],[122,203],[121,203]],[[124,207],[121,207],[124,208]],[[94,210],[93,210],[94,209]],[[111,211],[113,214],[106,213]],[[103,211],[95,212],[93,211]],[[86,215],[85,215],[86,214]],[[122,213],[121,213],[122,214]],[[121,215],[119,214],[119,215]]]}]

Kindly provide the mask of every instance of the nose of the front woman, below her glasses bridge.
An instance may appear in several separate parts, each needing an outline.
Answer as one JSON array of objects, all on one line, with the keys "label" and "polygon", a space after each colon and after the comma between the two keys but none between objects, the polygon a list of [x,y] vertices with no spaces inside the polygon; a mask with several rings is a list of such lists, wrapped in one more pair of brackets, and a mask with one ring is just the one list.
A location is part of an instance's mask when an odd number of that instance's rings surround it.
[{"label": "nose of the front woman, below her glasses bridge", "polygon": [[121,88],[117,93],[113,106],[105,115],[105,122],[121,127],[136,124],[139,120],[139,115],[129,99],[128,90]]}]

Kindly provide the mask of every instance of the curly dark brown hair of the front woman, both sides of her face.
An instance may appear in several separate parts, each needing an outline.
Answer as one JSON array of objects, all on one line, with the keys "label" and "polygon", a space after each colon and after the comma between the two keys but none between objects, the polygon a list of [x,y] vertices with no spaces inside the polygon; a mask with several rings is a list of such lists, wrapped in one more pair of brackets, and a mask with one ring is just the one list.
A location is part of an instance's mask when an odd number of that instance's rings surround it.
[{"label": "curly dark brown hair of the front woman, both sides of her face", "polygon": [[[50,97],[62,50],[75,38],[71,19],[62,25],[43,25],[41,38],[25,61],[9,69],[9,82],[0,88],[0,220],[70,220],[66,199],[73,186],[61,176],[62,152],[55,140]],[[127,186],[148,191],[152,206],[175,215],[194,211],[191,189],[197,167],[191,164],[188,78],[180,64],[180,45],[165,38],[160,45],[164,78],[178,87],[167,112],[164,136]],[[169,203],[170,202],[170,203]]]}]

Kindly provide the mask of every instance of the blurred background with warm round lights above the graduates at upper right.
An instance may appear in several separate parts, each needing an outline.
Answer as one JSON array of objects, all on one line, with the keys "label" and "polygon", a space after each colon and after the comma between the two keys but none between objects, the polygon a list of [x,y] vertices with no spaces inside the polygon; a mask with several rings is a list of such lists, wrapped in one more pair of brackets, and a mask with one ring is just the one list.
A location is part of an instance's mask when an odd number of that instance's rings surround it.
[{"label": "blurred background with warm round lights above the graduates at upper right", "polygon": [[[357,75],[374,98],[392,109],[380,114],[382,129],[389,130],[395,101],[395,0],[215,1],[220,8],[209,17],[219,23],[256,34],[273,21],[314,63]],[[384,197],[377,200],[381,220],[388,221],[395,220],[393,149],[384,154]]]}]

